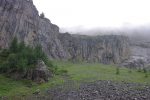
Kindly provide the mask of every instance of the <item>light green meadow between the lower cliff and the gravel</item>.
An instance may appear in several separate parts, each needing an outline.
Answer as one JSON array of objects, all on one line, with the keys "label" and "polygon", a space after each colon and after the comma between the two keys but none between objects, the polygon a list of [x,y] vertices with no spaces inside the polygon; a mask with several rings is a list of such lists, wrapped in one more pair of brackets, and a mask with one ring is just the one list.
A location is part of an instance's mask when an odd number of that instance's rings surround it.
[{"label": "light green meadow between the lower cliff and the gravel", "polygon": [[120,74],[117,75],[115,65],[103,65],[99,63],[72,64],[69,62],[55,62],[55,65],[66,69],[70,77],[76,81],[112,80],[150,84],[150,72],[148,72],[149,77],[146,78],[145,73],[138,72],[137,70],[131,70],[130,72],[127,68],[120,68]]}]

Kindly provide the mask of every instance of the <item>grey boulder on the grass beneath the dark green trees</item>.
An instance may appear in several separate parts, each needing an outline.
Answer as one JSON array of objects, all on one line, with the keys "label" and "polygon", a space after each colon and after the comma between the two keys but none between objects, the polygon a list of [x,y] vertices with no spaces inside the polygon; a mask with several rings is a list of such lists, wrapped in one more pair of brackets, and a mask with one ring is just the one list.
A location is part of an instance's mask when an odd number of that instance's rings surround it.
[{"label": "grey boulder on the grass beneath the dark green trees", "polygon": [[42,60],[38,60],[34,68],[25,71],[11,71],[8,74],[15,80],[28,79],[37,83],[47,82],[52,77],[52,72]]}]

